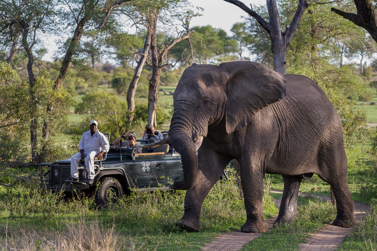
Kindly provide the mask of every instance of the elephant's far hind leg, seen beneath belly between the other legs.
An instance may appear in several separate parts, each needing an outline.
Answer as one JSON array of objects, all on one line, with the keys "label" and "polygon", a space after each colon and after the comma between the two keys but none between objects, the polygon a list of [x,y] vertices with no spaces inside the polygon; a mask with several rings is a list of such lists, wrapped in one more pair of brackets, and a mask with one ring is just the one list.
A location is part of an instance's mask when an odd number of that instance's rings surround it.
[{"label": "elephant's far hind leg, seen beneath belly between the other legs", "polygon": [[284,190],[282,201],[280,203],[279,215],[274,222],[274,227],[285,222],[291,222],[297,215],[297,196],[302,177],[300,175],[287,176],[282,175],[284,181]]}]

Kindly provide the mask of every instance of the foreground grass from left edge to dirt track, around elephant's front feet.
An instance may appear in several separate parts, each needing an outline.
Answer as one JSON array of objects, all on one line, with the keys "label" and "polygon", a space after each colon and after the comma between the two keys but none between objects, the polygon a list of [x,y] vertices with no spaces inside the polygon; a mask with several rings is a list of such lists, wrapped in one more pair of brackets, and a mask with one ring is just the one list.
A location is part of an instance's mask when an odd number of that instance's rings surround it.
[{"label": "foreground grass from left edge to dirt track, around elephant's front feet", "polygon": [[[277,213],[265,181],[265,217]],[[215,185],[204,200],[201,232],[175,227],[184,213],[185,191],[133,192],[118,204],[97,208],[92,198],[64,201],[35,189],[0,201],[0,249],[7,250],[196,250],[220,231],[246,221],[233,180]]]}]

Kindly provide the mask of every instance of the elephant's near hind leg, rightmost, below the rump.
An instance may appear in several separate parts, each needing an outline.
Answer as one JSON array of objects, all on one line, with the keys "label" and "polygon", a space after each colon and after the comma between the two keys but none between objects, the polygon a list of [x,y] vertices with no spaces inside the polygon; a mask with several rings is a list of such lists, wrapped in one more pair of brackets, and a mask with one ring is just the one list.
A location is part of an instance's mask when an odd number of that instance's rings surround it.
[{"label": "elephant's near hind leg, rightmost, below the rump", "polygon": [[347,157],[343,141],[331,140],[322,146],[319,170],[317,175],[330,184],[335,196],[337,215],[333,225],[352,227],[355,222],[354,203],[348,186]]}]

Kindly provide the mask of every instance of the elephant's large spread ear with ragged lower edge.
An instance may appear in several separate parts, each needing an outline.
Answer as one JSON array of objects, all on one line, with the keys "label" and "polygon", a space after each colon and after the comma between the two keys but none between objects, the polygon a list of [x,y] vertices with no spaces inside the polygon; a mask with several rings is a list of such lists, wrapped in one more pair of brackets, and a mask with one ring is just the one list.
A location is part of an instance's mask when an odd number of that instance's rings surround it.
[{"label": "elephant's large spread ear with ragged lower edge", "polygon": [[247,125],[261,108],[282,98],[285,78],[257,62],[236,61],[219,65],[228,75],[226,128],[231,133]]}]

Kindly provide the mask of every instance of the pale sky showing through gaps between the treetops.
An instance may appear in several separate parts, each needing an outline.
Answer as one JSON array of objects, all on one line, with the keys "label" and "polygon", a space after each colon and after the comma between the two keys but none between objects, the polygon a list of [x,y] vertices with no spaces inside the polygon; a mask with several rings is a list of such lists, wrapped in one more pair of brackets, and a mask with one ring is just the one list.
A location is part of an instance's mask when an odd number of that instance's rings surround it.
[{"label": "pale sky showing through gaps between the treetops", "polygon": [[[189,0],[190,1],[190,0]],[[265,1],[262,0],[241,0],[245,5],[259,6],[266,5]],[[191,0],[193,6],[199,6],[204,9],[204,11],[199,11],[202,14],[200,17],[194,17],[191,20],[190,26],[205,26],[210,24],[214,28],[221,28],[225,30],[228,35],[231,35],[230,29],[234,23],[242,22],[243,18],[241,16],[247,16],[248,14],[240,9],[239,7],[225,2],[224,0]],[[196,9],[195,9],[196,11]],[[129,30],[129,32],[133,32]],[[44,47],[48,50],[43,56],[43,60],[54,61],[54,51],[57,49],[54,37],[43,38]],[[248,55],[245,55],[248,56]]]}]

